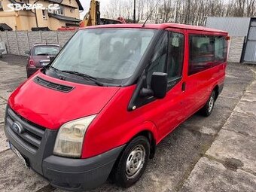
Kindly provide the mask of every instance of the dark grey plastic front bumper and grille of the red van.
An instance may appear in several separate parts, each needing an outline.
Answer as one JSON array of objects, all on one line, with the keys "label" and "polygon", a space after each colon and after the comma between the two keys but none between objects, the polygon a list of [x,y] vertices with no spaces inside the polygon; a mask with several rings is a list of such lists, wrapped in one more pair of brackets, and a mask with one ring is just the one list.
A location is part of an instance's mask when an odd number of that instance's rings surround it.
[{"label": "dark grey plastic front bumper and grille of the red van", "polygon": [[[25,130],[16,133],[12,123],[19,123]],[[36,135],[38,134],[38,135]],[[41,135],[40,135],[41,134]],[[25,158],[28,166],[50,181],[54,187],[65,190],[90,190],[103,184],[111,172],[123,146],[87,159],[72,159],[53,155],[56,130],[35,125],[6,109],[5,135]]]}]

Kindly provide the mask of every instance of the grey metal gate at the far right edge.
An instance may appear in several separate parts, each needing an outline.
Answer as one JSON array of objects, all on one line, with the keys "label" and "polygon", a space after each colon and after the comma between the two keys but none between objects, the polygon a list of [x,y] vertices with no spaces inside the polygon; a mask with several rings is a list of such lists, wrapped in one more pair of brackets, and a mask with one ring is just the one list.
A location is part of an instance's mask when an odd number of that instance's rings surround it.
[{"label": "grey metal gate at the far right edge", "polygon": [[256,62],[256,20],[251,19],[248,38],[245,49],[245,62]]}]

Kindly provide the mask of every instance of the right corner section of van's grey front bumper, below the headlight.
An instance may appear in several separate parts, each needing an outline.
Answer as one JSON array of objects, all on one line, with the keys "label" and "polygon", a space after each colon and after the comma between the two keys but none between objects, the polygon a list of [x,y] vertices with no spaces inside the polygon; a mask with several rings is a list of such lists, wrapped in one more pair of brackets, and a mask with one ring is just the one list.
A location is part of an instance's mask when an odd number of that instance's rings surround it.
[{"label": "right corner section of van's grey front bumper, below the headlight", "polygon": [[44,177],[64,190],[91,190],[103,184],[123,146],[84,160],[50,156],[43,161]]}]

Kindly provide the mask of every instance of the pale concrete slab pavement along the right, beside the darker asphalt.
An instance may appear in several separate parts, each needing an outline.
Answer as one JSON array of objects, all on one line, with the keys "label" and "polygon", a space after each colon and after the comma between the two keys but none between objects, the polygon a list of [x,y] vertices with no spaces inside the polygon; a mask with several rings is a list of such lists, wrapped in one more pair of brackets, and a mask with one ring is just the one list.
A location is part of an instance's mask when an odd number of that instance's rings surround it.
[{"label": "pale concrete slab pavement along the right, beside the darker asphalt", "polygon": [[182,192],[256,190],[256,81],[245,89],[211,148],[199,160]]}]

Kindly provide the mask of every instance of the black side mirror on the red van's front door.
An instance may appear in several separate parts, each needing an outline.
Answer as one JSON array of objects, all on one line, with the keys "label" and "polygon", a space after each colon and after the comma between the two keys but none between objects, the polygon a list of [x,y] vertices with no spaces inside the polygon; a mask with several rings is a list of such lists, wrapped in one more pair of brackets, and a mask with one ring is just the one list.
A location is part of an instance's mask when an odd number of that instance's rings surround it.
[{"label": "black side mirror on the red van's front door", "polygon": [[154,72],[151,77],[151,90],[156,99],[163,99],[167,93],[167,74]]}]

